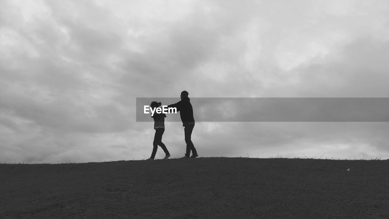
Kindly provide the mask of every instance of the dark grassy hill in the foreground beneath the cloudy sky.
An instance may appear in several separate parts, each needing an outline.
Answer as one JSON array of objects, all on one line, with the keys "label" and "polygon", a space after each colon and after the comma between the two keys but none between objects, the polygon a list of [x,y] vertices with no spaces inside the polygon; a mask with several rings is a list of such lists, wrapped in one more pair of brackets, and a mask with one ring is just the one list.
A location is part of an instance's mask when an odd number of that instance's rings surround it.
[{"label": "dark grassy hill in the foreground beneath the cloudy sky", "polygon": [[389,218],[389,160],[0,164],[0,218]]}]

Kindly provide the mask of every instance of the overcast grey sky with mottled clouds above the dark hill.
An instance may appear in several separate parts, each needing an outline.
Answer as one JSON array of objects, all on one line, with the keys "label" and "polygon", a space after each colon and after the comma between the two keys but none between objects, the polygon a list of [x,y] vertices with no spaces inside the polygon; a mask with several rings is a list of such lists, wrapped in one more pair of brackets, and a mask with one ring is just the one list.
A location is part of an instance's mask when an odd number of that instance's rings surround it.
[{"label": "overcast grey sky with mottled clouds above the dark hill", "polygon": [[[2,0],[0,162],[147,159],[137,97],[389,97],[388,72],[387,0]],[[170,117],[163,142],[182,157]],[[192,140],[200,157],[389,159],[388,131],[198,122]]]}]

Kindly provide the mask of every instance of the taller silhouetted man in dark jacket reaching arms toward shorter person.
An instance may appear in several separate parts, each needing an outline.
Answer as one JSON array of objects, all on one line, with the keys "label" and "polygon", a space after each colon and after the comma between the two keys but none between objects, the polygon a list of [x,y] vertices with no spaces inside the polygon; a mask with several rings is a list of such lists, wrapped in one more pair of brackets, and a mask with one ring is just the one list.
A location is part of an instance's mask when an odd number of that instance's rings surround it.
[{"label": "taller silhouetted man in dark jacket reaching arms toward shorter person", "polygon": [[188,95],[189,93],[184,90],[183,92],[181,92],[180,95],[181,101],[168,105],[168,108],[175,107],[177,108],[177,111],[180,111],[182,126],[184,126],[186,154],[184,157],[181,158],[189,158],[191,151],[191,158],[198,157],[196,148],[191,140],[193,127],[195,127],[195,119],[193,118],[193,108]]}]

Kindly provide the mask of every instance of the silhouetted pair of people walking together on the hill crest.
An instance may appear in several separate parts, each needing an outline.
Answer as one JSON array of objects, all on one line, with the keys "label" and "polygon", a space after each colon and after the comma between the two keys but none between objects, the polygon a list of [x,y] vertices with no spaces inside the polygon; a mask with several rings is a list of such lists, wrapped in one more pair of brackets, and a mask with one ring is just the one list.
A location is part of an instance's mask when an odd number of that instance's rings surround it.
[{"label": "silhouetted pair of people walking together on the hill crest", "polygon": [[[168,105],[168,108],[176,108],[177,111],[180,111],[182,126],[184,126],[186,154],[184,157],[181,158],[189,158],[191,151],[191,158],[198,157],[196,148],[191,140],[192,131],[195,127],[195,119],[193,118],[193,108],[188,95],[189,93],[184,90],[183,92],[181,92],[181,100],[179,102]],[[159,106],[161,106],[161,102],[153,101],[150,104],[152,110],[154,110],[154,108],[158,108]],[[153,148],[151,157],[148,160],[154,160],[155,155],[157,153],[158,145],[162,148],[163,152],[165,152],[166,156],[164,159],[168,159],[170,157],[168,149],[166,148],[165,144],[162,143],[162,135],[163,132],[165,132],[165,117],[165,113],[157,113],[156,110],[154,111],[152,118],[154,118],[155,135],[154,141],[152,143]]]}]

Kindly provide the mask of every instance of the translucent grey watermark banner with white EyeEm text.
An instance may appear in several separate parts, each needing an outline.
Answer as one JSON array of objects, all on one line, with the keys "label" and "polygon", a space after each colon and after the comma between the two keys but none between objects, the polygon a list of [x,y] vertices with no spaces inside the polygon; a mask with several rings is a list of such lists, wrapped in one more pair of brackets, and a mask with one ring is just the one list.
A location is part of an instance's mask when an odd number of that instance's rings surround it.
[{"label": "translucent grey watermark banner with white EyeEm text", "polygon": [[[137,97],[137,122],[152,122],[152,101],[161,108],[180,98]],[[193,97],[196,122],[389,122],[389,98],[218,98]],[[147,113],[145,109],[149,108]],[[180,122],[180,111],[170,109],[165,122]]]}]

